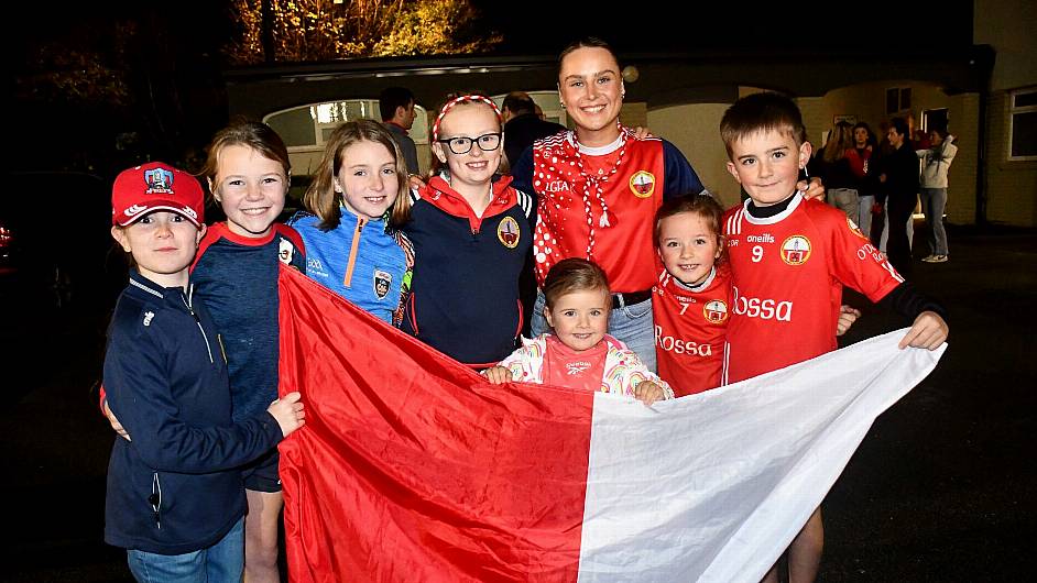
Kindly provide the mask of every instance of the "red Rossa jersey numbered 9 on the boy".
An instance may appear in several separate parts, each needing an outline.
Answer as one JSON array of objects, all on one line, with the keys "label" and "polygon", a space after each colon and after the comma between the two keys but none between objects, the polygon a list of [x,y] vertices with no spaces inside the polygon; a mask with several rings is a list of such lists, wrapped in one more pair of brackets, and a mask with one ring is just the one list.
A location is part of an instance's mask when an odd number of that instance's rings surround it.
[{"label": "red Rossa jersey numbered 9 on the boy", "polygon": [[847,216],[799,194],[774,217],[724,213],[733,304],[724,383],[836,350],[848,285],[878,301],[904,282]]}]

